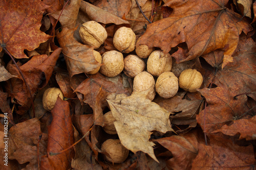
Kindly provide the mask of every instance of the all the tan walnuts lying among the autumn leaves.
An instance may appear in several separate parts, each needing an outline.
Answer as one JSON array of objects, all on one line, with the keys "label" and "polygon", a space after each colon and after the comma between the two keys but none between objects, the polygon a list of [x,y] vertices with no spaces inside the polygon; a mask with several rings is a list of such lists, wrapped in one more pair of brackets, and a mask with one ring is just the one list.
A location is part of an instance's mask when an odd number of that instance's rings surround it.
[{"label": "all the tan walnuts lying among the autumn leaves", "polygon": [[[79,30],[81,41],[84,44],[93,46],[94,49],[100,47],[108,37],[104,27],[95,21],[84,23]],[[137,43],[140,38],[137,40]],[[136,36],[132,29],[127,27],[119,28],[113,38],[113,44],[117,51],[108,51],[101,56],[99,52],[93,51],[95,60],[102,65],[87,74],[96,74],[98,71],[106,77],[115,77],[122,71],[130,78],[134,78],[133,91],[146,91],[147,98],[153,100],[156,93],[162,98],[172,98],[179,87],[195,92],[200,88],[203,77],[196,69],[185,69],[179,76],[174,75],[172,70],[172,57],[169,53],[164,54],[161,50],[155,50],[146,45],[136,46]],[[133,54],[131,53],[135,50]],[[125,57],[123,57],[123,54]],[[147,58],[147,62],[146,61]],[[156,79],[156,81],[155,81]],[[43,106],[51,111],[58,96],[63,100],[63,93],[59,88],[49,88],[43,96]],[[117,134],[114,126],[115,118],[112,112],[104,114],[102,127],[108,134]],[[106,161],[122,163],[129,155],[119,139],[108,139],[101,145],[101,151]]]}]

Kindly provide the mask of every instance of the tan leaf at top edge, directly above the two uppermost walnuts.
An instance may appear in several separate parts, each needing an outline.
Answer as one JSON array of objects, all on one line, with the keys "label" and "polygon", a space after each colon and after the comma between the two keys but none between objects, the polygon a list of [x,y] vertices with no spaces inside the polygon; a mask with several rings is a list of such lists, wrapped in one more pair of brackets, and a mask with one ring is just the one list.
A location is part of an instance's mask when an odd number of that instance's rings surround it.
[{"label": "tan leaf at top edge, directly above the two uppermost walnuts", "polygon": [[[116,15],[113,15],[110,12],[107,12],[103,9],[100,9],[99,7],[96,7],[90,3],[81,2],[80,10],[84,13],[86,13],[91,20],[94,20],[96,22],[101,22],[101,23],[115,23],[116,25],[120,25],[123,23],[128,23],[128,21],[123,20],[121,17],[118,17]],[[97,12],[95,12],[97,11]],[[122,14],[123,15],[123,14]],[[121,15],[121,16],[122,16]]]}]

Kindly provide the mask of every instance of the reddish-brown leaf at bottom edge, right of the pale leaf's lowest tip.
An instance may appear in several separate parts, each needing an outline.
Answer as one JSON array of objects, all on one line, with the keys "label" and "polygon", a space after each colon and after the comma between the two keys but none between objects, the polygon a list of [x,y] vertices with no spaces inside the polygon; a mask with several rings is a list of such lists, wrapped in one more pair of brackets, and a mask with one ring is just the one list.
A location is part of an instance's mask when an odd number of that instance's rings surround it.
[{"label": "reddish-brown leaf at bottom edge, right of the pale leaf's lowest tip", "polygon": [[170,136],[155,139],[163,147],[173,154],[173,158],[167,160],[171,169],[190,169],[193,160],[198,154],[198,141],[196,133],[186,133],[179,136]]}]

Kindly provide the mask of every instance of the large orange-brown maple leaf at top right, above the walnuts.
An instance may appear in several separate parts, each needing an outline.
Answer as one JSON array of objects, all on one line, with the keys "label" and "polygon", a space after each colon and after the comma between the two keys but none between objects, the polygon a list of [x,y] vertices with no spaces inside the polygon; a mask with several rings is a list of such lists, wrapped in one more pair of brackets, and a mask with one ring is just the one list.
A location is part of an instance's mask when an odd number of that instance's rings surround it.
[{"label": "large orange-brown maple leaf at top right, above the walnuts", "polygon": [[188,53],[180,62],[221,49],[224,59],[236,50],[239,35],[252,31],[242,16],[227,9],[228,0],[220,1],[168,1],[165,6],[173,8],[167,18],[148,25],[140,43],[160,47],[168,53],[172,47],[186,42]]}]

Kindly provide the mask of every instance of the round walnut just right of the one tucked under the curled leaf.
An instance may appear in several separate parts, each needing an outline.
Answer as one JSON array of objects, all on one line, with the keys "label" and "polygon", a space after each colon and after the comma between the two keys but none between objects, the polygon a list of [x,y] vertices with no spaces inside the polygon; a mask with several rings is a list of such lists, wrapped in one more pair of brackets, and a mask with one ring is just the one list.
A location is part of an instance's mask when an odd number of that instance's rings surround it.
[{"label": "round walnut just right of the one tucked under the curled leaf", "polygon": [[99,71],[106,77],[115,77],[124,67],[122,53],[112,50],[102,54],[102,65]]}]

